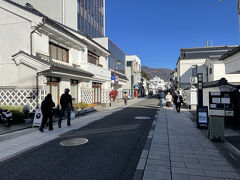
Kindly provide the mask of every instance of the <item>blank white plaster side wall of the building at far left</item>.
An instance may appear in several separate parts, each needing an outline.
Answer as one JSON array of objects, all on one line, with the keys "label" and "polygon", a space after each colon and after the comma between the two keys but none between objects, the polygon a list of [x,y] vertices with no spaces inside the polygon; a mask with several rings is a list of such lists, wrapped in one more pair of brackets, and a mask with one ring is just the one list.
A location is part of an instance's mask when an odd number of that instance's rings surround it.
[{"label": "blank white plaster side wall of the building at far left", "polygon": [[0,72],[5,77],[0,86],[32,87],[36,84],[36,70],[22,64],[16,66],[12,60],[12,55],[20,50],[30,53],[31,22],[2,8],[0,19]]}]

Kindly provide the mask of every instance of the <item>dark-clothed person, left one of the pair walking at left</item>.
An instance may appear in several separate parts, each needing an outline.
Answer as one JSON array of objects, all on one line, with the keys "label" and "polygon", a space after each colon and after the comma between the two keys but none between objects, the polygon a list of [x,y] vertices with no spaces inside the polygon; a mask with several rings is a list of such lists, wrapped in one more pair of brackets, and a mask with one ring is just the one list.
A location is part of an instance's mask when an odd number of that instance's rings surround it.
[{"label": "dark-clothed person, left one of the pair walking at left", "polygon": [[42,110],[42,123],[39,127],[39,131],[43,132],[43,128],[45,125],[47,125],[47,120],[49,119],[49,131],[53,130],[53,107],[55,106],[55,103],[52,100],[52,94],[48,94],[45,99],[41,103],[41,110]]}]

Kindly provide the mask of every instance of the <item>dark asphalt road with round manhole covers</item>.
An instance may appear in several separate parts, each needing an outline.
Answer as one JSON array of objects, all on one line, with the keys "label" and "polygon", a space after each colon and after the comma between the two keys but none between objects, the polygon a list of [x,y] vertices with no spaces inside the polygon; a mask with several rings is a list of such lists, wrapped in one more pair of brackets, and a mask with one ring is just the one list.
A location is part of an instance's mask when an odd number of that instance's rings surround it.
[{"label": "dark asphalt road with round manhole covers", "polygon": [[[62,135],[0,164],[0,179],[130,180],[133,178],[158,99],[146,99],[95,123]],[[148,120],[136,116],[151,117]],[[61,146],[86,138],[80,146]]]}]

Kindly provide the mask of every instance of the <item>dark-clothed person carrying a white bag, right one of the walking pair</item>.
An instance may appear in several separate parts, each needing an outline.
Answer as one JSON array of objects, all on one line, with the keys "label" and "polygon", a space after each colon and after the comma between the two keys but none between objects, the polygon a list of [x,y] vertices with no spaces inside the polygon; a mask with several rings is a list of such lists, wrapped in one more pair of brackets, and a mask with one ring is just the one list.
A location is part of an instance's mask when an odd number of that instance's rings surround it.
[{"label": "dark-clothed person carrying a white bag, right one of the walking pair", "polygon": [[70,90],[68,88],[65,89],[64,94],[62,94],[60,98],[61,111],[60,111],[60,116],[58,120],[59,128],[61,128],[62,118],[65,112],[67,114],[67,125],[71,126],[70,114],[71,114],[71,110],[73,111],[73,106],[72,106],[72,96],[69,94],[69,92]]}]

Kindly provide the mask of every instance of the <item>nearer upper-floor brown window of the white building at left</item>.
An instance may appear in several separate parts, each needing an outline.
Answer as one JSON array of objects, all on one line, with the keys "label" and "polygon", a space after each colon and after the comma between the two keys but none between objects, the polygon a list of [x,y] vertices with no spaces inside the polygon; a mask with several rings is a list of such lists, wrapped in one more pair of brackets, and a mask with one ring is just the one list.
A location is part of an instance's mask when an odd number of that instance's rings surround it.
[{"label": "nearer upper-floor brown window of the white building at left", "polygon": [[68,49],[49,43],[49,56],[52,59],[68,63]]}]

